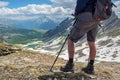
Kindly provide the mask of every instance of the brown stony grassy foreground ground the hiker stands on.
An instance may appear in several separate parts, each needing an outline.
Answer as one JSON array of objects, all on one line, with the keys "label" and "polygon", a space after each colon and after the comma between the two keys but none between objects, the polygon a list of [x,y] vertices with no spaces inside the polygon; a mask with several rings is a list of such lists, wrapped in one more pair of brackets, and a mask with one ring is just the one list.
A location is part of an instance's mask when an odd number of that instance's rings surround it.
[{"label": "brown stony grassy foreground ground the hiker stands on", "polygon": [[[0,50],[12,45],[0,44]],[[14,46],[15,47],[15,46]],[[7,49],[7,48],[6,48]],[[4,51],[3,51],[4,52]],[[58,58],[53,67],[55,72],[49,69],[55,57],[47,54],[36,53],[27,50],[17,50],[13,53],[0,56],[1,80],[118,80],[120,79],[120,63],[101,62],[95,65],[95,78],[83,73],[81,68],[84,63],[75,63],[75,73],[63,73],[59,71],[65,60]],[[106,67],[107,66],[107,67]]]}]

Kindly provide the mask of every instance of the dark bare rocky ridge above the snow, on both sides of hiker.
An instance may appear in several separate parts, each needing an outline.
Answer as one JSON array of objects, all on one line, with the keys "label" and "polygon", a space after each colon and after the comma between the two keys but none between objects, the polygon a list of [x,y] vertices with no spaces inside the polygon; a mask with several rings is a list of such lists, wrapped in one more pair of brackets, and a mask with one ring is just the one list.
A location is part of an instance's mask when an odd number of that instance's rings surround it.
[{"label": "dark bare rocky ridge above the snow, on both sides of hiker", "polygon": [[[99,28],[99,32],[104,31],[110,31],[116,27],[119,27],[120,19],[118,16],[113,12],[112,16],[106,20],[101,22],[101,25],[103,26],[102,29]],[[56,28],[49,30],[45,33],[46,40],[51,40],[54,38],[58,38],[59,36],[66,36],[69,33],[69,30],[71,29],[73,24],[73,19],[67,18],[64,21],[62,21]]]}]

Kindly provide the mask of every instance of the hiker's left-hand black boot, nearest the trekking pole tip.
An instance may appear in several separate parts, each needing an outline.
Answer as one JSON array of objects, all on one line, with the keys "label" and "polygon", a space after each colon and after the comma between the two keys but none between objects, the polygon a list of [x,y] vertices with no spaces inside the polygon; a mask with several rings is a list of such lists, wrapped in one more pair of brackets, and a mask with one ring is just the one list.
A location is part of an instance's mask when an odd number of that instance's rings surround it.
[{"label": "hiker's left-hand black boot, nearest the trekking pole tip", "polygon": [[67,64],[65,66],[62,66],[60,68],[60,70],[63,72],[73,72],[74,73],[74,64],[67,62]]}]

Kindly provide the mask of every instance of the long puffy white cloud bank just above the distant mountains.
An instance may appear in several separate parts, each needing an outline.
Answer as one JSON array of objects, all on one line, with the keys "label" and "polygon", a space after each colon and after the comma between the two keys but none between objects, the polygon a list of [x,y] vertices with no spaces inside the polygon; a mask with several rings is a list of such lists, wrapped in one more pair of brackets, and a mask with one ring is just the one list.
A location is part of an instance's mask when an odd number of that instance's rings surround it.
[{"label": "long puffy white cloud bank just above the distant mountains", "polygon": [[70,8],[63,8],[62,6],[52,6],[52,5],[36,5],[30,4],[20,8],[0,8],[0,16],[4,18],[17,19],[17,20],[27,20],[36,19],[43,15],[48,18],[62,19],[64,16],[72,13]]}]

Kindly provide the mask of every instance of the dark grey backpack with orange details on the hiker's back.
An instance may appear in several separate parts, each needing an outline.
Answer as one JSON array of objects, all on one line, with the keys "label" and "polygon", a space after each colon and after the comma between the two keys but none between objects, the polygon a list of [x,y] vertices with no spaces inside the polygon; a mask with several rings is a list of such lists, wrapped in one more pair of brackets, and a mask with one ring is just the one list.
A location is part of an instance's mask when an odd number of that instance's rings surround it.
[{"label": "dark grey backpack with orange details on the hiker's back", "polygon": [[[112,15],[112,7],[115,6],[111,0],[96,0],[93,19],[102,21]],[[116,7],[116,6],[115,6]]]}]

